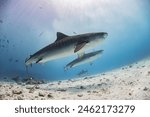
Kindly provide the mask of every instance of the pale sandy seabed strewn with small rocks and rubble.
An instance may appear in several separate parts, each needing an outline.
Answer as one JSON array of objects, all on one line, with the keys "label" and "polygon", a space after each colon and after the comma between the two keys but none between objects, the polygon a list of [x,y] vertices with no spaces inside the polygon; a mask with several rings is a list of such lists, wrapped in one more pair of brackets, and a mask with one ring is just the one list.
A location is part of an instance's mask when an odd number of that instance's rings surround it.
[{"label": "pale sandy seabed strewn with small rocks and rubble", "polygon": [[150,59],[72,80],[40,85],[0,82],[1,100],[149,100]]}]

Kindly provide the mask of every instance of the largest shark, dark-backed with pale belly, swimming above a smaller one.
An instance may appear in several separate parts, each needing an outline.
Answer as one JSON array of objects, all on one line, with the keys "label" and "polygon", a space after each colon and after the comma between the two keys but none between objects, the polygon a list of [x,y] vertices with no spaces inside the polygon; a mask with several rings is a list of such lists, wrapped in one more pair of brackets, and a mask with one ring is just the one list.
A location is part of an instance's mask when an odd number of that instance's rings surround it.
[{"label": "largest shark, dark-backed with pale belly, swimming above a smaller one", "polygon": [[73,54],[84,53],[101,44],[108,36],[106,32],[86,33],[68,36],[57,32],[55,42],[37,51],[25,61],[26,66],[36,63],[46,63]]}]

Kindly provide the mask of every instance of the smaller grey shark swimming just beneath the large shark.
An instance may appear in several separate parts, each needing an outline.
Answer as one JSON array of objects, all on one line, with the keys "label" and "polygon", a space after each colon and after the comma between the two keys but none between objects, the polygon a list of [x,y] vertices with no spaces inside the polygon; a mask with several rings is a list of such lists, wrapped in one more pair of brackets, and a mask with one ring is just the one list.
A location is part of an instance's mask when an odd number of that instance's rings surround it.
[{"label": "smaller grey shark swimming just beneath the large shark", "polygon": [[98,59],[102,55],[103,51],[104,50],[98,50],[95,52],[90,52],[90,53],[84,54],[83,56],[78,57],[77,59],[68,63],[65,66],[64,70],[66,71],[70,68],[77,67],[77,66],[82,65],[82,64],[91,63],[94,60]]}]

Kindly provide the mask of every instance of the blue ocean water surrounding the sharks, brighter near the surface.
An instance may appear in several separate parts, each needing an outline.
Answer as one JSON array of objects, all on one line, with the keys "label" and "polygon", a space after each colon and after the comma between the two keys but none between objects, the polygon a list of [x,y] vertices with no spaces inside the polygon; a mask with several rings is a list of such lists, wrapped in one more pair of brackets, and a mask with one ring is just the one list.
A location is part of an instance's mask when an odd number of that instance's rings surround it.
[{"label": "blue ocean water surrounding the sharks, brighter near the surface", "polygon": [[64,71],[77,55],[33,65],[31,76],[46,80],[93,75],[139,61],[150,55],[149,0],[0,0],[0,75],[27,76],[25,59],[67,35],[107,32],[103,49],[92,65]]}]

